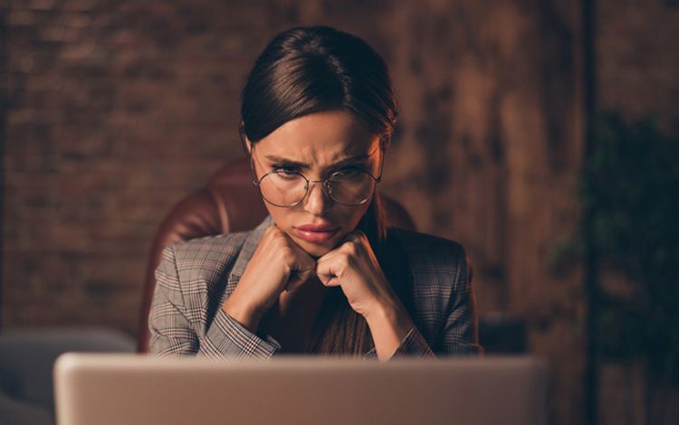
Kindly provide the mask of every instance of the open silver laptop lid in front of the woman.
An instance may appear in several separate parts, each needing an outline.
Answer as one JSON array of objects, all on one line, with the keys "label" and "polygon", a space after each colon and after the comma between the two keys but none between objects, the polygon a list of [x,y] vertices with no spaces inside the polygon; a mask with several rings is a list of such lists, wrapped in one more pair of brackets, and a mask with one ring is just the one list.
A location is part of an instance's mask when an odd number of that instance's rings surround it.
[{"label": "open silver laptop lid in front of the woman", "polygon": [[62,354],[58,425],[542,425],[546,369],[528,357],[272,361]]}]

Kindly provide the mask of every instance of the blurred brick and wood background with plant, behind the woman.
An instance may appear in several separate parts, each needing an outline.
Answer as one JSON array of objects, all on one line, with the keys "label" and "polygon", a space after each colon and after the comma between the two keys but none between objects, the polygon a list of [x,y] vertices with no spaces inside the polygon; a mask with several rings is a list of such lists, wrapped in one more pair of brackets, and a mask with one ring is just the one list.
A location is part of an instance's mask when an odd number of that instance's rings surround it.
[{"label": "blurred brick and wood background with plant, behind the woman", "polygon": [[548,423],[676,423],[677,0],[0,1],[0,335],[136,337],[158,225],[244,156],[245,74],[306,24],[386,59],[380,189],[464,244]]}]

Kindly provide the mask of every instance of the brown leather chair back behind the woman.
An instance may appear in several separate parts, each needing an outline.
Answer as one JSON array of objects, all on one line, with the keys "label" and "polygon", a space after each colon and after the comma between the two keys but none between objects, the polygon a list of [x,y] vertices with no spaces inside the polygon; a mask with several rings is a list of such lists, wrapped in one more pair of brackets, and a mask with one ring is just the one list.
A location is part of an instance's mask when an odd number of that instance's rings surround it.
[{"label": "brown leather chair back behind the woman", "polygon": [[[388,225],[415,230],[415,223],[403,206],[387,196],[382,198]],[[222,166],[205,187],[188,194],[172,208],[161,222],[150,250],[139,322],[139,353],[148,351],[148,312],[156,287],[154,272],[163,248],[178,241],[251,230],[266,215],[247,158]]]}]

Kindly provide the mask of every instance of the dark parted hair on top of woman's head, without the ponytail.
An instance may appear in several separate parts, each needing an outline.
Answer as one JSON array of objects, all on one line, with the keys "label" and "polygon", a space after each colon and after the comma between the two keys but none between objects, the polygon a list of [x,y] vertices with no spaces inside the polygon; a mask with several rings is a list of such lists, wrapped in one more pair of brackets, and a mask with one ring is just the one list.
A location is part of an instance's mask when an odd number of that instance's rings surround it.
[{"label": "dark parted hair on top of woman's head, without the ponytail", "polygon": [[397,102],[387,64],[367,42],[328,26],[276,35],[250,71],[241,130],[252,142],[314,112],[343,110],[388,143]]}]

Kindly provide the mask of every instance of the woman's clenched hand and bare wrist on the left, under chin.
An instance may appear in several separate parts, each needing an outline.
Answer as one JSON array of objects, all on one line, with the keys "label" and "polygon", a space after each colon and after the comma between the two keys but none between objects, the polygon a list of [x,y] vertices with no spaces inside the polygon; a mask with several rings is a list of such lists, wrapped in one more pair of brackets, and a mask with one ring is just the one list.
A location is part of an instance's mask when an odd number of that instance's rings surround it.
[{"label": "woman's clenched hand and bare wrist on the left, under chin", "polygon": [[316,260],[272,225],[264,231],[253,257],[223,309],[252,332],[283,290],[298,288],[311,278]]}]

